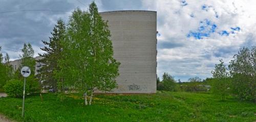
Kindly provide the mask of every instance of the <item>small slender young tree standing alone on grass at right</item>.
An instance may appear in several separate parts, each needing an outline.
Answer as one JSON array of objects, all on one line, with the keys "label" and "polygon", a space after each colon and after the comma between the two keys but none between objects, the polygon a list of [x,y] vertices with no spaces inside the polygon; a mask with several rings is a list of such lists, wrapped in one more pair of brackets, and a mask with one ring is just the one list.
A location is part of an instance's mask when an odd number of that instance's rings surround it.
[{"label": "small slender young tree standing alone on grass at right", "polygon": [[220,60],[220,64],[215,65],[215,70],[211,71],[211,73],[212,77],[215,78],[212,92],[222,96],[222,100],[224,100],[225,96],[228,95],[229,73],[227,72],[227,68],[222,59]]}]

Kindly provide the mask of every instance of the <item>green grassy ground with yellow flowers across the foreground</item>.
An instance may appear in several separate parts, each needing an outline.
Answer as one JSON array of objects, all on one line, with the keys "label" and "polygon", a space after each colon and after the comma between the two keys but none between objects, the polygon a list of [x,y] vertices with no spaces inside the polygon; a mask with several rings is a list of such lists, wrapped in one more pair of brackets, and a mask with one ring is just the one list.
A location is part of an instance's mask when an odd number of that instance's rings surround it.
[{"label": "green grassy ground with yellow flowers across the foreground", "polygon": [[[55,95],[26,98],[25,121],[255,121],[256,104],[210,94],[159,92],[156,95],[98,95],[92,106],[69,95],[59,102]],[[0,98],[0,112],[22,121],[22,99]]]}]

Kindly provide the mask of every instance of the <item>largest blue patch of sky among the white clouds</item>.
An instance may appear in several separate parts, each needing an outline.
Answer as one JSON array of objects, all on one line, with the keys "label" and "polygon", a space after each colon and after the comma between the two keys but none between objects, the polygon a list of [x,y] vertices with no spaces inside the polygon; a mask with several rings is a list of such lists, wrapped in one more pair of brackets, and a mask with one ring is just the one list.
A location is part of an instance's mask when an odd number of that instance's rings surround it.
[{"label": "largest blue patch of sky among the white clouds", "polygon": [[189,31],[187,38],[194,37],[195,39],[203,39],[203,37],[210,37],[211,33],[215,33],[217,25],[208,19],[200,21],[200,26],[196,31]]}]

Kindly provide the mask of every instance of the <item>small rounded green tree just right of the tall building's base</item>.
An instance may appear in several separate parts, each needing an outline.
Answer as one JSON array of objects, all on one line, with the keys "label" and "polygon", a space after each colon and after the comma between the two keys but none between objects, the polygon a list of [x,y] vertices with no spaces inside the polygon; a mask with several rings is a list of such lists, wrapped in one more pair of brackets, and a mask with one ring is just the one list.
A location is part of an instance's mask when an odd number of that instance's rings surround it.
[{"label": "small rounded green tree just right of the tall building's base", "polygon": [[164,90],[175,91],[176,89],[176,81],[174,77],[169,75],[168,73],[164,73],[162,77],[162,82],[164,86]]}]

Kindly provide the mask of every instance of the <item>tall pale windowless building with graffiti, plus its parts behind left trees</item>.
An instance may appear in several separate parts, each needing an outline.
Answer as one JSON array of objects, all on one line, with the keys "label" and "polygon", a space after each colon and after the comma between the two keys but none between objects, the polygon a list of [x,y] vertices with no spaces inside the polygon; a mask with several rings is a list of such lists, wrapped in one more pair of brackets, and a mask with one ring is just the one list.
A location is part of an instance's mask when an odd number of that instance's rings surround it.
[{"label": "tall pale windowless building with graffiti, plus its parts behind left trees", "polygon": [[[109,21],[114,58],[121,63],[118,88],[113,93],[156,93],[157,12],[112,11],[100,15]],[[18,62],[11,64],[15,68]]]}]

